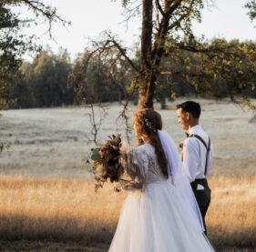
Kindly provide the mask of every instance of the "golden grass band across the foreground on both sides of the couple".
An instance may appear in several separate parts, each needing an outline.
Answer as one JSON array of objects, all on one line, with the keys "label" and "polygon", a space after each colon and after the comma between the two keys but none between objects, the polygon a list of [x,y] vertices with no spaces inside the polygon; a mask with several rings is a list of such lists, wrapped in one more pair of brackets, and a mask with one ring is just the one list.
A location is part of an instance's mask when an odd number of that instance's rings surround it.
[{"label": "golden grass band across the foreground on both sides of the couple", "polygon": [[[207,217],[215,247],[256,247],[256,176],[210,178]],[[85,179],[0,178],[0,237],[109,243],[125,192],[94,192]]]}]

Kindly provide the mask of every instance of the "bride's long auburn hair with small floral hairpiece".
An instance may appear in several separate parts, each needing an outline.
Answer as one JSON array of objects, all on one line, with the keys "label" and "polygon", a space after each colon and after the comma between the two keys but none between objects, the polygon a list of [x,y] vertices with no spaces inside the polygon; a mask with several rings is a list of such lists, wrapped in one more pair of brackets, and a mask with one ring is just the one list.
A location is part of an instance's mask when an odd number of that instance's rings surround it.
[{"label": "bride's long auburn hair with small floral hairpiece", "polygon": [[145,140],[155,147],[161,171],[164,176],[168,177],[167,159],[158,135],[158,130],[162,129],[161,116],[153,109],[144,108],[133,116],[133,123],[137,126],[138,146]]}]

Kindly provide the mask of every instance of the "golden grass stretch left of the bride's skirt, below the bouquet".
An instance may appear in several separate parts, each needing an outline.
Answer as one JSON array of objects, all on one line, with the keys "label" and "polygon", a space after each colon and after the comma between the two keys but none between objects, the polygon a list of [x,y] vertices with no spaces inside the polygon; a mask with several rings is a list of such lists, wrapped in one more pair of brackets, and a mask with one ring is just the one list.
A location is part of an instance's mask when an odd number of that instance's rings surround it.
[{"label": "golden grass stretch left of the bride's skirt, below the bouquet", "polygon": [[0,237],[109,241],[122,196],[87,180],[2,177]]}]

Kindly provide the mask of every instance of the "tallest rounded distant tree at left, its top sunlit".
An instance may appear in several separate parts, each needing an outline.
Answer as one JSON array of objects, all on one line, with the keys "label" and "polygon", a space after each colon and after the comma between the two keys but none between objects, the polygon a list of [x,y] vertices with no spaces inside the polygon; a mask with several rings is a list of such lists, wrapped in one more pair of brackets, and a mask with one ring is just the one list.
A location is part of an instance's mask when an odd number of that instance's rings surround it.
[{"label": "tallest rounded distant tree at left, its top sunlit", "polygon": [[41,52],[32,64],[27,79],[33,96],[33,106],[62,106],[73,104],[73,93],[67,87],[71,63],[67,52],[53,55]]}]

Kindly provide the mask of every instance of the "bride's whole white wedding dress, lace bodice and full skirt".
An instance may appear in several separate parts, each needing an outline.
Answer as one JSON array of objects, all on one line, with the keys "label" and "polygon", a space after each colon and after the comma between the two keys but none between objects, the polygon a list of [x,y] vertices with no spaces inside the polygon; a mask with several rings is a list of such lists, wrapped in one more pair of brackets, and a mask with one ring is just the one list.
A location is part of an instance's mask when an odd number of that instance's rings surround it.
[{"label": "bride's whole white wedding dress, lace bodice and full skirt", "polygon": [[[177,160],[178,150],[173,153]],[[129,191],[108,251],[214,251],[203,234],[197,206],[191,204],[195,199],[187,177],[181,172],[175,181],[166,179],[149,144],[138,146],[129,160],[129,173],[141,189]]]}]

